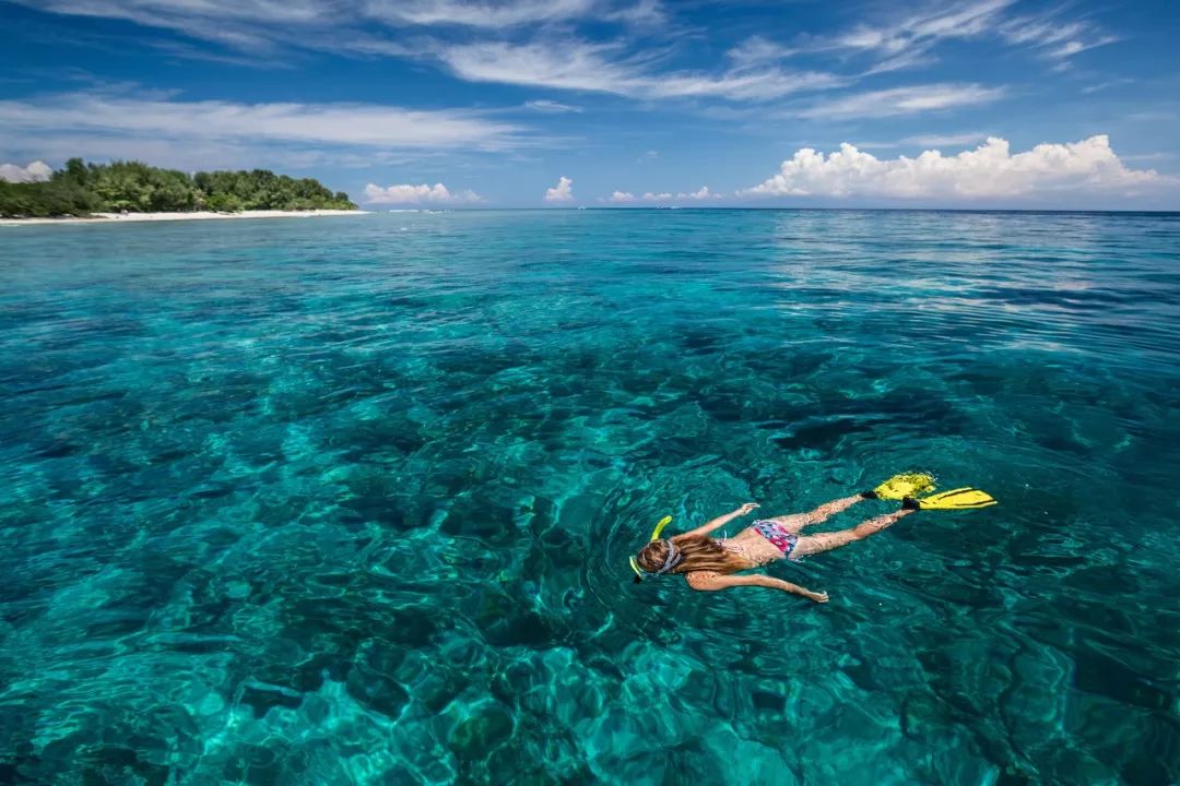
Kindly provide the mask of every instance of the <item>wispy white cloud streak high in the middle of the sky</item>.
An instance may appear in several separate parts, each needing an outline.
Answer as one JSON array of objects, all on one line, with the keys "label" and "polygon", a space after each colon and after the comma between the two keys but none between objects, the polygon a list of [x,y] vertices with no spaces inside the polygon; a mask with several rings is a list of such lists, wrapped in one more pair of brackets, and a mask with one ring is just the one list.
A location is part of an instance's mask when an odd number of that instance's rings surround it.
[{"label": "wispy white cloud streak high in the middle of the sky", "polygon": [[846,81],[835,74],[787,72],[778,67],[730,68],[719,74],[695,71],[653,73],[647,62],[615,59],[618,52],[617,45],[569,39],[524,45],[506,41],[459,44],[444,46],[437,54],[457,77],[467,81],[645,99],[771,100]]}]

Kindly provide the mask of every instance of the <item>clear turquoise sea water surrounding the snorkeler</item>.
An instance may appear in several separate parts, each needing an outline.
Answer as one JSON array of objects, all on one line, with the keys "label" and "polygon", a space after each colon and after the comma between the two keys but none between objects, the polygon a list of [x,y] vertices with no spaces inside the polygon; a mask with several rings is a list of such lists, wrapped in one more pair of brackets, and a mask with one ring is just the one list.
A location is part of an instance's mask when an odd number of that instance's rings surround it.
[{"label": "clear turquoise sea water surrounding the snorkeler", "polygon": [[[0,781],[1180,779],[1178,216],[17,227],[0,283]],[[827,606],[630,583],[907,469],[1002,504],[772,567]]]}]

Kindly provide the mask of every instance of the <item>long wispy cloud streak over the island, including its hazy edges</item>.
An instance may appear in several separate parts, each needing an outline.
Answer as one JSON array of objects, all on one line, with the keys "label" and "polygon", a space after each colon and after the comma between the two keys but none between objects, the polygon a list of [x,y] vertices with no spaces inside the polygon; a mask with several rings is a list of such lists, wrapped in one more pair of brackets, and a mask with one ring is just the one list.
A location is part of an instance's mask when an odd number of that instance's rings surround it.
[{"label": "long wispy cloud streak over the island, including its hazy edges", "polygon": [[[185,101],[101,90],[0,100],[0,157],[149,160],[177,169],[372,167],[467,159],[546,144],[527,127],[459,110],[374,104]],[[0,159],[2,160],[2,159]]]}]

